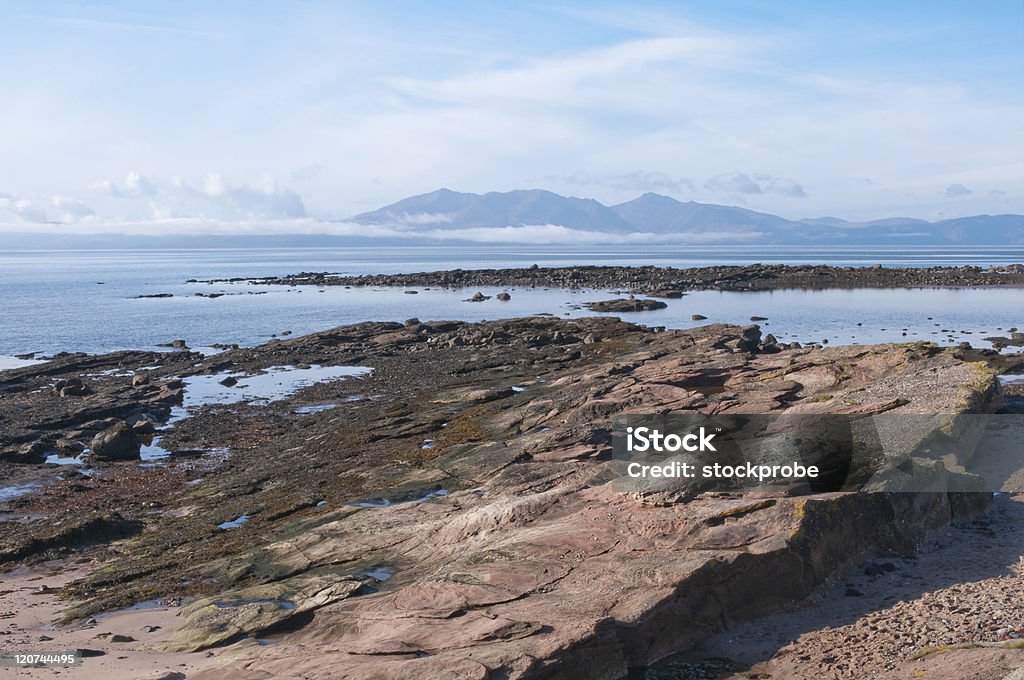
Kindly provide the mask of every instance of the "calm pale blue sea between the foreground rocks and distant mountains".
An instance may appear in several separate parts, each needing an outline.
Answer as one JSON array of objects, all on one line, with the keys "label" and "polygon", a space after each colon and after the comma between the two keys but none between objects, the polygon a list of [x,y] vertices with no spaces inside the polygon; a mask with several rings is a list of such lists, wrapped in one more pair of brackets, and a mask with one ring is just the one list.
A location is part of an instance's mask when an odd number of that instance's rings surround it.
[{"label": "calm pale blue sea between the foreground rocks and distant mountains", "polygon": [[[2,239],[2,235],[0,235]],[[0,241],[2,248],[2,241]],[[291,331],[296,335],[362,321],[467,321],[550,313],[593,314],[581,304],[606,291],[516,290],[509,302],[464,300],[463,291],[266,287],[188,284],[189,279],[265,277],[298,271],[383,273],[455,267],[572,264],[825,263],[835,265],[991,266],[1024,262],[1024,247],[828,249],[751,247],[424,247],[294,250],[0,251],[0,369],[14,354],[157,349],[181,338],[191,347],[252,345]],[[481,289],[494,295],[502,289]],[[170,293],[167,298],[139,295]],[[223,293],[199,297],[197,293]],[[258,293],[258,294],[257,294]],[[1024,328],[1019,289],[785,290],[697,292],[668,300],[668,309],[624,318],[649,326],[689,328],[714,322],[749,324],[753,315],[780,340],[873,343],[926,339],[945,344]],[[692,314],[708,316],[691,321]],[[903,334],[906,335],[903,335]]]}]

